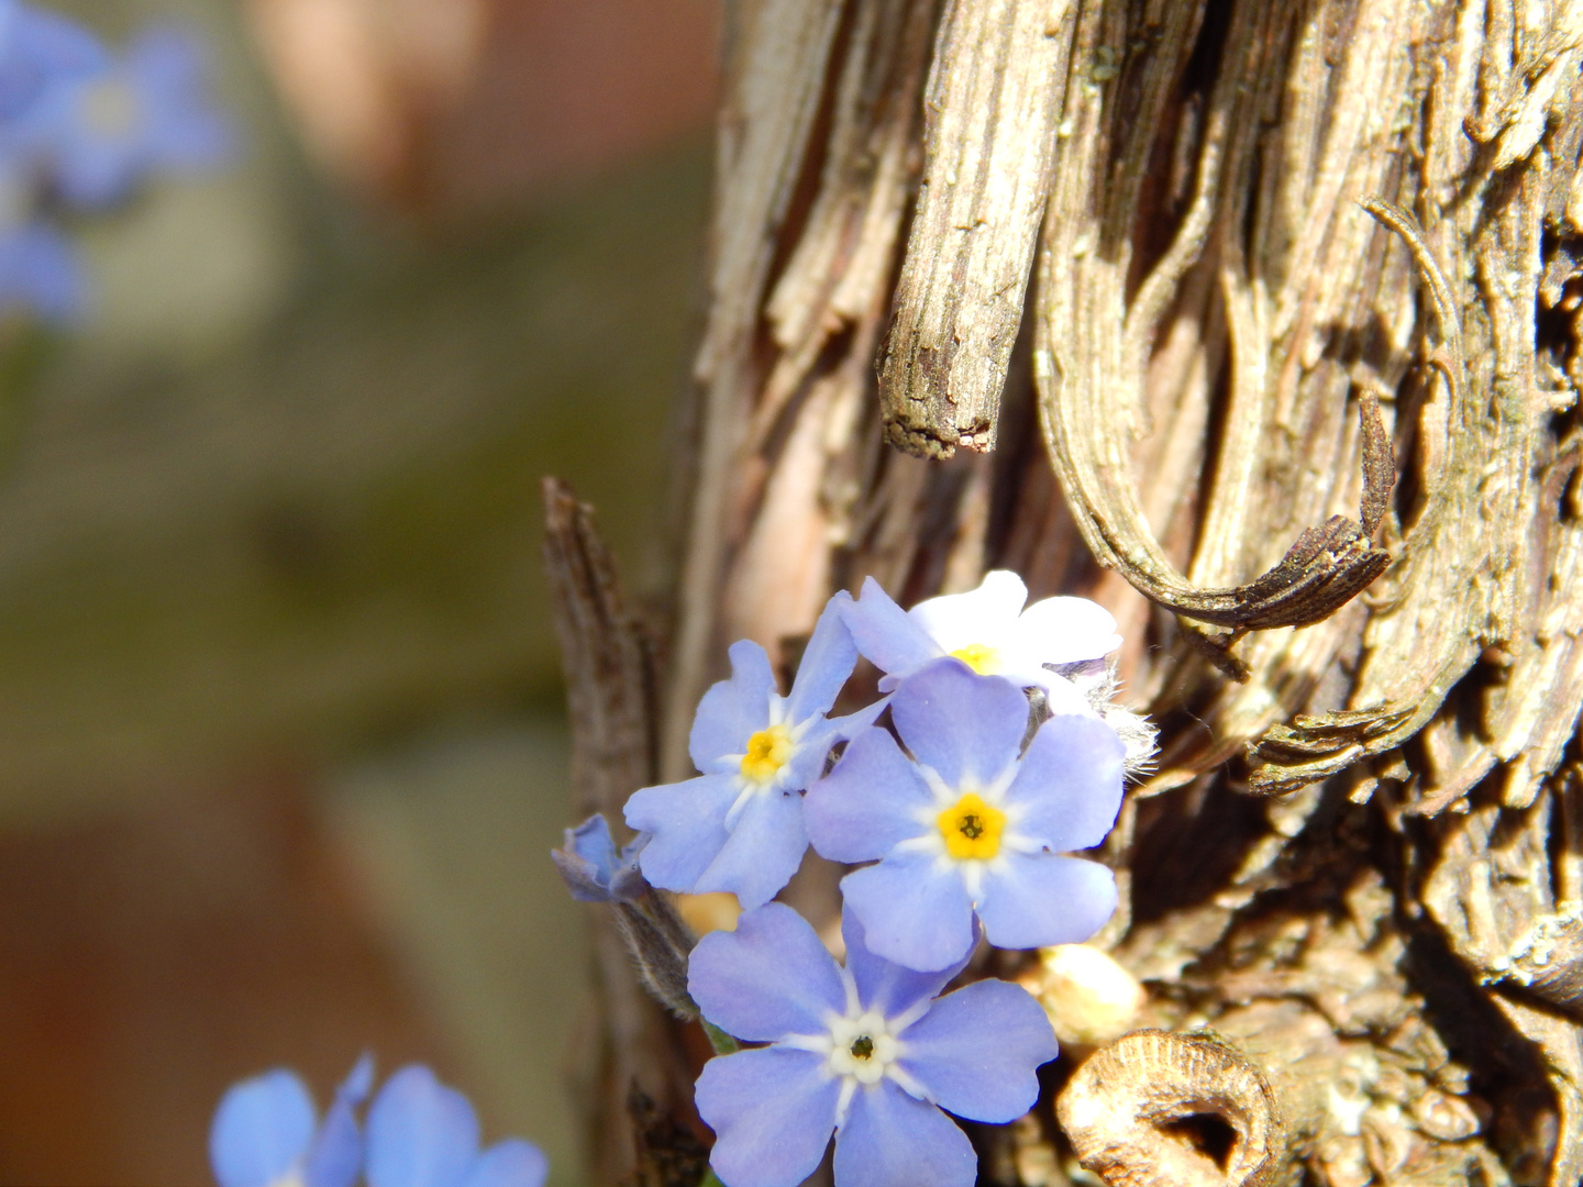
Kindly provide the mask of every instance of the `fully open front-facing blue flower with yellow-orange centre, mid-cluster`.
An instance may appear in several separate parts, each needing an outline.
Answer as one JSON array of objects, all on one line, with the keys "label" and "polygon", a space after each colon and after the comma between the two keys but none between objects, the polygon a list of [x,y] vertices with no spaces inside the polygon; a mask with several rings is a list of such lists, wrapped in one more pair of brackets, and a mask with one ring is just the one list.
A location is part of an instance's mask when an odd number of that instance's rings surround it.
[{"label": "fully open front-facing blue flower with yellow-orange centre, mid-cluster", "polygon": [[820,856],[879,863],[841,882],[872,951],[943,969],[972,946],[975,912],[997,948],[1076,943],[1103,926],[1111,872],[1062,855],[1116,821],[1126,745],[1108,725],[1051,717],[1019,755],[1027,698],[953,658],[902,681],[891,720],[910,757],[864,730],[806,798]]}]

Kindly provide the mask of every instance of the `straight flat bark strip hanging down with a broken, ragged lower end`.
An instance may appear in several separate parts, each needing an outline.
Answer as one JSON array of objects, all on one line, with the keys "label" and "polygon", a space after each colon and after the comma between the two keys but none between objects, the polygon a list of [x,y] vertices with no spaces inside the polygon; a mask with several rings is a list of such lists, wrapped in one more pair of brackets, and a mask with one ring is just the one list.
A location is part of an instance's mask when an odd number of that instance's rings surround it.
[{"label": "straight flat bark strip hanging down with a broken, ragged lower end", "polygon": [[924,95],[926,165],[880,410],[920,457],[994,448],[1045,209],[1069,0],[950,0]]}]

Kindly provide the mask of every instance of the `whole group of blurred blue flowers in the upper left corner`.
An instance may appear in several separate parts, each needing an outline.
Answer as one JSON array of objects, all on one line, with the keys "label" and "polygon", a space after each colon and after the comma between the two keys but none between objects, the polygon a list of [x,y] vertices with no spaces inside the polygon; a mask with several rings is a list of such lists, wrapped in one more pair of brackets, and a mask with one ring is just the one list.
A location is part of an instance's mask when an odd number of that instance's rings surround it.
[{"label": "whole group of blurred blue flowers in the upper left corner", "polygon": [[0,0],[0,312],[73,318],[84,280],[59,217],[217,165],[231,141],[185,28],[147,28],[117,55],[63,16]]}]

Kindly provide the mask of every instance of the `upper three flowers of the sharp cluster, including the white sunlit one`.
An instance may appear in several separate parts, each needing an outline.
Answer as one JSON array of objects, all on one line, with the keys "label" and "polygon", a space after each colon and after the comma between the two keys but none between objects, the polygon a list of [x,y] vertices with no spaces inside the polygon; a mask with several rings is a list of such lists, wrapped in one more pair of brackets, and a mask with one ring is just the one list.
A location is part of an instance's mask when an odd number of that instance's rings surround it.
[{"label": "upper three flowers of the sharp cluster, including the white sunlit one", "polygon": [[[966,956],[975,913],[1005,948],[1092,935],[1114,882],[1065,853],[1110,831],[1126,744],[1057,668],[1121,639],[1092,601],[1026,600],[1021,578],[994,571],[902,611],[871,578],[858,600],[829,600],[787,698],[763,647],[735,644],[731,679],[693,719],[704,774],[627,801],[627,825],[651,834],[644,877],[752,908],[810,842],[831,861],[879,863],[847,875],[845,904],[877,954],[918,970]],[[885,673],[885,696],[826,717],[860,654]],[[1042,720],[1024,688],[1042,693]],[[886,707],[894,734],[874,725]],[[826,772],[837,742],[845,753]]]}]

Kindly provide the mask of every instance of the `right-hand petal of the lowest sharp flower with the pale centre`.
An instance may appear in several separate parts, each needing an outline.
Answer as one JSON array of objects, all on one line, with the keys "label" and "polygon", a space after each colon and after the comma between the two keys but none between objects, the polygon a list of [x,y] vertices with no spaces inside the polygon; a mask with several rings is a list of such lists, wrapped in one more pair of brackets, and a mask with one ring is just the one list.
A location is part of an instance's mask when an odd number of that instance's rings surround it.
[{"label": "right-hand petal of the lowest sharp flower with the pale centre", "polygon": [[1045,1008],[1007,981],[947,994],[902,1032],[901,1068],[929,1100],[972,1121],[1016,1121],[1034,1108],[1035,1068],[1054,1057]]}]

